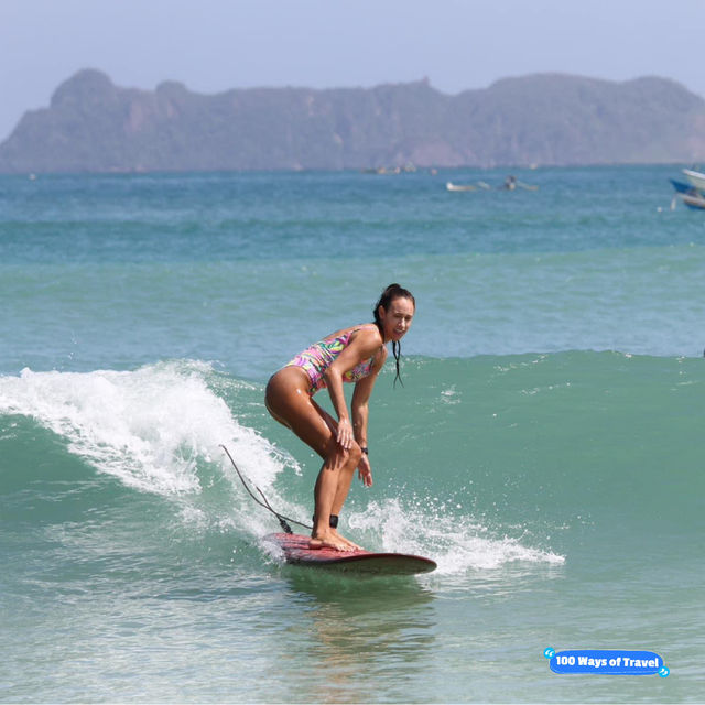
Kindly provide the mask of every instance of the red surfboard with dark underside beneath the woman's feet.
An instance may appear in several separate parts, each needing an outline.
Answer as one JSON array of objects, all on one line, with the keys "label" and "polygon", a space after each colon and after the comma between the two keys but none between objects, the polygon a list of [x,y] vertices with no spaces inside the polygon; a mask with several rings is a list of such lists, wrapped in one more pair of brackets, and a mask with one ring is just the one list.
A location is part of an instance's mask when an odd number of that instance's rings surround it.
[{"label": "red surfboard with dark underside beneath the woman's feet", "polygon": [[264,536],[264,541],[276,544],[283,551],[286,563],[294,565],[378,575],[414,575],[430,573],[437,567],[431,558],[406,553],[310,549],[310,536],[299,533],[272,533]]}]

